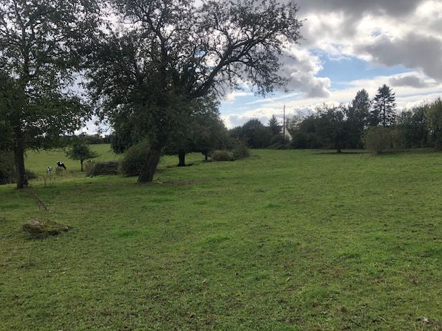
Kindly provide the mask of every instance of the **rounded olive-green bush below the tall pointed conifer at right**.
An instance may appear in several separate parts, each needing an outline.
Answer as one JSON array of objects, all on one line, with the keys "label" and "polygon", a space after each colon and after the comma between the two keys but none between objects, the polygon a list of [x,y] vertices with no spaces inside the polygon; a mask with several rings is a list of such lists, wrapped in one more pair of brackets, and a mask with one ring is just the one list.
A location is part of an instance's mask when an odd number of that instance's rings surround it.
[{"label": "rounded olive-green bush below the tall pointed conifer at right", "polygon": [[372,154],[382,154],[401,147],[401,137],[397,130],[376,126],[369,128],[364,136],[365,149]]}]

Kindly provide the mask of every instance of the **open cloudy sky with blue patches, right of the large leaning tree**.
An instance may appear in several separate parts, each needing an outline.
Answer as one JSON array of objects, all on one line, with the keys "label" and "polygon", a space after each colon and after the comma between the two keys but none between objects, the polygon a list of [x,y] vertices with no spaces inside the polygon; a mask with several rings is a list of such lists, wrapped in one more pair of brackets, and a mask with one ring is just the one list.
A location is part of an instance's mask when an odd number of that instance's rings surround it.
[{"label": "open cloudy sky with blue patches, right of the large leaning tree", "polygon": [[291,92],[228,94],[221,114],[228,128],[251,118],[347,103],[386,83],[398,108],[442,96],[442,0],[298,0],[304,40],[291,48],[283,73]]}]

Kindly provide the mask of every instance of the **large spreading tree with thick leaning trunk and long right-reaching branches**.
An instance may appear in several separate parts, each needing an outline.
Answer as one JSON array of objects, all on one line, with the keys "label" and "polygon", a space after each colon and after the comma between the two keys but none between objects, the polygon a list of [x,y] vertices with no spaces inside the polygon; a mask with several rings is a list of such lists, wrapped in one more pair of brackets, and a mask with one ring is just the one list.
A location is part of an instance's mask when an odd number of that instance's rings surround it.
[{"label": "large spreading tree with thick leaning trunk and long right-reaching branches", "polygon": [[140,182],[152,181],[193,99],[244,81],[260,94],[284,86],[280,54],[300,39],[290,1],[113,0],[111,8],[122,24],[109,25],[93,44],[89,88],[101,118],[131,118],[150,141]]}]

